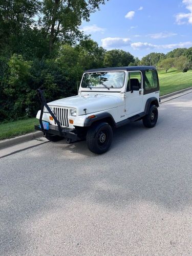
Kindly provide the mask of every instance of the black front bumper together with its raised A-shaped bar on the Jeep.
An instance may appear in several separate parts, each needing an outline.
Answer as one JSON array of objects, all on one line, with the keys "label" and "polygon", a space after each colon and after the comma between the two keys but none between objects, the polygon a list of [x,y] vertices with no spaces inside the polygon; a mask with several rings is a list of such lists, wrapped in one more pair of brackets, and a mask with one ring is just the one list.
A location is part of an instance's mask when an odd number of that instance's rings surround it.
[{"label": "black front bumper together with its raised A-shaped bar on the Jeep", "polygon": [[[43,132],[44,136],[46,136],[47,134],[50,134],[50,135],[58,135],[60,137],[67,138],[68,143],[73,143],[75,141],[82,140],[82,138],[80,138],[78,134],[76,134],[75,129],[70,129],[68,127],[61,127],[61,124],[56,118],[55,113],[52,112],[51,109],[49,108],[49,105],[47,104],[43,91],[41,91],[40,89],[37,89],[37,94],[41,102],[41,110],[40,110],[40,118],[39,118],[40,126],[39,124],[35,125],[35,130]],[[57,124],[57,126],[49,124],[49,130],[45,130],[44,125],[42,124],[42,115],[44,114],[44,107],[46,107],[47,111],[53,117],[54,121]]]}]

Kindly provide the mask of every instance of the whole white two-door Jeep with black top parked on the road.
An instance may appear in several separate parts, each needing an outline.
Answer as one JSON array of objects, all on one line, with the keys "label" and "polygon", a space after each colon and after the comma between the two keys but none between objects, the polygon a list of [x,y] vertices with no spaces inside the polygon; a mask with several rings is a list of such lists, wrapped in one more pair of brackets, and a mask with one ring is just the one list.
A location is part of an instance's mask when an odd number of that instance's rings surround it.
[{"label": "whole white two-door Jeep with black top parked on the road", "polygon": [[77,96],[46,103],[38,89],[40,125],[50,141],[86,139],[91,152],[108,151],[113,129],[143,120],[154,127],[158,119],[159,80],[154,67],[122,67],[85,71]]}]

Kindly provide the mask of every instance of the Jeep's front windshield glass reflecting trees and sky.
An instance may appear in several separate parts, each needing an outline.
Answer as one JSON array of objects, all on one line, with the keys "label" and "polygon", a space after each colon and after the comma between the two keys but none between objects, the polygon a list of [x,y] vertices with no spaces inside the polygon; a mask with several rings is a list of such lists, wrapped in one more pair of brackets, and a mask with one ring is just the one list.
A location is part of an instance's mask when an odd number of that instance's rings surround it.
[{"label": "Jeep's front windshield glass reflecting trees and sky", "polygon": [[125,79],[125,72],[94,72],[83,75],[82,88],[122,88]]}]

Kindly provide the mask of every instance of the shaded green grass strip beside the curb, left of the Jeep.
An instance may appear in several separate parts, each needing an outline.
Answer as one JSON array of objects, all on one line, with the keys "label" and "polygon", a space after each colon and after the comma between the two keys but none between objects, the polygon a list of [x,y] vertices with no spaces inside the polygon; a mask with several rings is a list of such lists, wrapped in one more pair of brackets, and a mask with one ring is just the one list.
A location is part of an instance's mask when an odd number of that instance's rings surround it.
[{"label": "shaded green grass strip beside the curb, left of the Jeep", "polygon": [[34,132],[35,124],[38,124],[38,120],[36,118],[2,123],[0,124],[0,140]]}]

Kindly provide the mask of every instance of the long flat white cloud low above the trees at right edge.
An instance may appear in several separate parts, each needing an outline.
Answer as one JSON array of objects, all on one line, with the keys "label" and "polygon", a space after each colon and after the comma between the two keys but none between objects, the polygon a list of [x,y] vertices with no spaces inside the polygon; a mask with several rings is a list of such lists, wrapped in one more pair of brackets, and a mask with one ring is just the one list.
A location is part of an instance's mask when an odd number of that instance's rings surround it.
[{"label": "long flat white cloud low above the trees at right edge", "polygon": [[148,42],[134,42],[131,47],[134,50],[140,49],[176,49],[176,48],[187,48],[192,46],[192,41],[179,42],[178,44],[168,44],[168,45],[153,45]]}]

